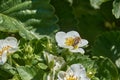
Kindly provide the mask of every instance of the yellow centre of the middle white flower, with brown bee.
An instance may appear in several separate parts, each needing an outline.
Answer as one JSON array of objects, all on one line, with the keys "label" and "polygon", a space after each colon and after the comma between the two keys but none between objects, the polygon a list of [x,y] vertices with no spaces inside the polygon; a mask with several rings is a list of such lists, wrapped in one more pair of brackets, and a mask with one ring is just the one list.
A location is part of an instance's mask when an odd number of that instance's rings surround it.
[{"label": "yellow centre of the middle white flower, with brown bee", "polygon": [[67,46],[73,46],[75,49],[78,48],[78,43],[80,42],[80,37],[69,37],[66,38],[65,44]]}]

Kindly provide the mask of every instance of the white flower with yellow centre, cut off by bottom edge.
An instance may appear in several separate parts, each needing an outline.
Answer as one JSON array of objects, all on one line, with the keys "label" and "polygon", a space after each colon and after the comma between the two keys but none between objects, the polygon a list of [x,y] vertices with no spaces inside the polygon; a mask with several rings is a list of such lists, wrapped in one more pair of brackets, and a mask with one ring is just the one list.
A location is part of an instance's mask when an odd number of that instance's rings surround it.
[{"label": "white flower with yellow centre, cut off by bottom edge", "polygon": [[71,65],[66,72],[60,71],[57,80],[90,80],[81,64]]}]

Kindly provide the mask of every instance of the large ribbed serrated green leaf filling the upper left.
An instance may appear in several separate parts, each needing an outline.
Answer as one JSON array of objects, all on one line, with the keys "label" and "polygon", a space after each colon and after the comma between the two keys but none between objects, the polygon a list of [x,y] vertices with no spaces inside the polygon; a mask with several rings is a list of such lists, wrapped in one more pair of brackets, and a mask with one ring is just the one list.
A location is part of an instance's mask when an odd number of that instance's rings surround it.
[{"label": "large ribbed serrated green leaf filling the upper left", "polygon": [[31,40],[58,30],[58,18],[49,0],[2,0],[0,8],[0,31],[19,32]]}]

